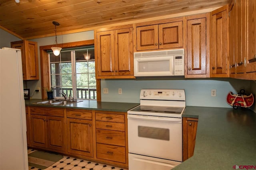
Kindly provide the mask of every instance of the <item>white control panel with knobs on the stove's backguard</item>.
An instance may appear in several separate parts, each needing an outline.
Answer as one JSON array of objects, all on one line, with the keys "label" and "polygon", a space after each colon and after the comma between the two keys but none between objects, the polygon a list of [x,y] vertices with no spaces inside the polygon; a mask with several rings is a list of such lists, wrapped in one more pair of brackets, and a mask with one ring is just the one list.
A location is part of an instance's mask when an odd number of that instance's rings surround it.
[{"label": "white control panel with knobs on the stove's backguard", "polygon": [[184,89],[142,89],[140,99],[185,101]]}]

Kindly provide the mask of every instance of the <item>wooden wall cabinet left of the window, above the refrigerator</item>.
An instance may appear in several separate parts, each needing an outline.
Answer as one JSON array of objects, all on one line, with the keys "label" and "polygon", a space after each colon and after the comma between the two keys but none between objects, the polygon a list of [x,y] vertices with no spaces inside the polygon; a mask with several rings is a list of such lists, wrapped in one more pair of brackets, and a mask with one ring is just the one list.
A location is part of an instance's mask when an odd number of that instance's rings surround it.
[{"label": "wooden wall cabinet left of the window, above the refrigerator", "polygon": [[11,42],[11,47],[21,49],[23,80],[39,80],[37,43],[15,41]]}]

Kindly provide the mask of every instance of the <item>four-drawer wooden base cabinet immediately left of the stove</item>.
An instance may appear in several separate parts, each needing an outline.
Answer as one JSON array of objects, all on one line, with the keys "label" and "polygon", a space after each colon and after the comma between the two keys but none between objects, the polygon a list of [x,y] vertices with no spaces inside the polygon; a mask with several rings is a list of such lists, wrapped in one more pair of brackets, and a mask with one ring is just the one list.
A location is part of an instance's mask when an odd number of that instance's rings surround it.
[{"label": "four-drawer wooden base cabinet immediately left of the stove", "polygon": [[98,160],[128,166],[126,115],[96,112],[96,154]]}]

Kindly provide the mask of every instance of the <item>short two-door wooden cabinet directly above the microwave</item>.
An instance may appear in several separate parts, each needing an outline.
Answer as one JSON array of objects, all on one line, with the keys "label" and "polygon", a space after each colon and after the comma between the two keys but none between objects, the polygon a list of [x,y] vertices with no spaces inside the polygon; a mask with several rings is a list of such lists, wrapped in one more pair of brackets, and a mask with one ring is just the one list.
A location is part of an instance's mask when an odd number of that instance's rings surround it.
[{"label": "short two-door wooden cabinet directly above the microwave", "polygon": [[183,47],[183,21],[137,26],[137,51]]}]

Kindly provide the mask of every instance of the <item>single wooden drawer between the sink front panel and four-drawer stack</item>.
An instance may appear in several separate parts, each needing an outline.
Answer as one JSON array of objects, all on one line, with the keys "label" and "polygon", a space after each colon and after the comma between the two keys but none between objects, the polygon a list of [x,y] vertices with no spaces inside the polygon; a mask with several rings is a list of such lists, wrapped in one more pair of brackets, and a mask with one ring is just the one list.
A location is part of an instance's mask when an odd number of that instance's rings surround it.
[{"label": "single wooden drawer between the sink front panel and four-drawer stack", "polygon": [[67,117],[92,120],[92,112],[80,109],[67,109]]}]

